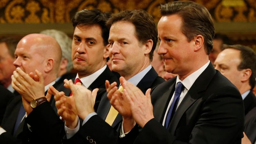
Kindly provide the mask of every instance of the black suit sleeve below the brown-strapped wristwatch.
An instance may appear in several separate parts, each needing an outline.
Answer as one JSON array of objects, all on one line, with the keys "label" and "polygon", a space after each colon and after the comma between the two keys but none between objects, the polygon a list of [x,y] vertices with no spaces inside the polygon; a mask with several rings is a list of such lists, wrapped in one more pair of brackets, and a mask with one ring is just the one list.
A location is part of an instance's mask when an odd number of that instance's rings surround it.
[{"label": "black suit sleeve below the brown-strapped wristwatch", "polygon": [[26,118],[26,123],[31,126],[32,132],[26,130],[27,124],[24,125],[23,130],[29,133],[29,140],[32,143],[61,144],[64,122],[60,120],[60,116],[56,115],[49,102],[36,107]]}]

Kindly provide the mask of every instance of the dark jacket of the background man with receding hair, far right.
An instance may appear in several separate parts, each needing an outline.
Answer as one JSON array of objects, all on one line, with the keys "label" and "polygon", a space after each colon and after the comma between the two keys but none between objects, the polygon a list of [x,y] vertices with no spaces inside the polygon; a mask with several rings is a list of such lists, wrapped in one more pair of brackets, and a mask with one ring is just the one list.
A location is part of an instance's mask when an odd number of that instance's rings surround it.
[{"label": "dark jacket of the background man with receding hair, far right", "polygon": [[256,97],[252,91],[250,91],[244,99],[244,115],[246,116],[254,107],[256,107]]}]

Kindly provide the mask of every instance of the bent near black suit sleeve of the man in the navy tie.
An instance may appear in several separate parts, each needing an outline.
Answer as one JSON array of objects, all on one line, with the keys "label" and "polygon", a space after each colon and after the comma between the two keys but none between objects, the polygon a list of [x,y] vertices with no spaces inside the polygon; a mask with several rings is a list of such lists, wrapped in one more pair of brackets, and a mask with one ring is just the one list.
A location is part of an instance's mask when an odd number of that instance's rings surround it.
[{"label": "bent near black suit sleeve of the man in the navy tie", "polygon": [[[236,140],[239,139],[241,143],[244,108],[239,96],[232,94],[232,92],[225,95],[211,95],[203,102],[201,107],[197,108],[199,108],[199,115],[195,122],[193,120],[189,121],[191,124],[178,126],[175,131],[176,134],[183,133],[183,135],[188,135],[189,137],[184,137],[184,139],[177,138],[162,124],[152,119],[144,126],[134,143],[229,144],[236,143]],[[194,118],[191,117],[190,119]],[[192,127],[192,131],[189,131],[189,125]]]}]

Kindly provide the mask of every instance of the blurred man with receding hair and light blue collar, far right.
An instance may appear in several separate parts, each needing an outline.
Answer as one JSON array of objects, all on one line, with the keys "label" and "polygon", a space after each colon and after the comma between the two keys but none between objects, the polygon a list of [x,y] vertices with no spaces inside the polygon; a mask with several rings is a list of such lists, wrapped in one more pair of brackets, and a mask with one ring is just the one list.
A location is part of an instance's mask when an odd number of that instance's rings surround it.
[{"label": "blurred man with receding hair and light blue collar, far right", "polygon": [[214,68],[237,87],[244,101],[246,116],[256,107],[256,98],[252,93],[256,77],[256,54],[250,47],[239,44],[223,44],[223,49],[214,62]]}]

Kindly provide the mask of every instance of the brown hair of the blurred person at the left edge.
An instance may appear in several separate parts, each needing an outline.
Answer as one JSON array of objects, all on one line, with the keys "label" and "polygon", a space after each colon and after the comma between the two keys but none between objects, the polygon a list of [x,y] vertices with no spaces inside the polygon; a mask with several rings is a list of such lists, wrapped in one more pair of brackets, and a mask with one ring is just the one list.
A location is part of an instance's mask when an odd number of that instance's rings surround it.
[{"label": "brown hair of the blurred person at the left edge", "polygon": [[9,54],[14,58],[14,52],[16,50],[17,44],[19,43],[20,39],[15,37],[1,37],[0,43],[5,43],[7,45]]}]

